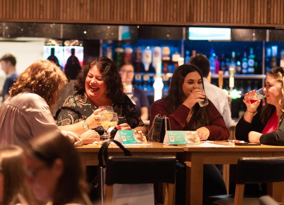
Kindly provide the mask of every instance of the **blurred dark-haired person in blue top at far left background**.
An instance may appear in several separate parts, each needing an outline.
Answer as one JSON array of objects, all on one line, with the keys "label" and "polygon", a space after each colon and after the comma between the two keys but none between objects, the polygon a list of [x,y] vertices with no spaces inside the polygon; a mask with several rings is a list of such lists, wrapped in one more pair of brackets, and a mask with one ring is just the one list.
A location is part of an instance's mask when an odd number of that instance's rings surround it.
[{"label": "blurred dark-haired person in blue top at far left background", "polygon": [[1,69],[7,76],[2,90],[3,102],[9,97],[10,87],[17,80],[16,63],[16,57],[11,53],[6,53],[0,58]]}]

